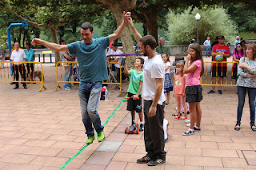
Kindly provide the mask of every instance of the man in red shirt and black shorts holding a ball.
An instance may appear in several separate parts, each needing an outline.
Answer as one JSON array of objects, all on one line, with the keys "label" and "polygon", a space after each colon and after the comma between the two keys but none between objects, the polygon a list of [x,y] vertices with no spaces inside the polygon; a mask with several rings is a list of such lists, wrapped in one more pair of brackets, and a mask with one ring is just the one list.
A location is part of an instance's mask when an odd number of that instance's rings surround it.
[{"label": "man in red shirt and black shorts holding a ball", "polygon": [[[228,45],[224,44],[225,42],[225,38],[224,36],[219,36],[218,37],[218,44],[214,45],[213,51],[211,53],[212,57],[213,57],[213,61],[216,61],[215,57],[216,55],[220,55],[223,57],[222,61],[226,61],[227,57],[230,57],[230,49]],[[216,84],[216,76],[218,76],[218,93],[222,94],[222,83],[223,83],[223,77],[226,77],[226,70],[227,69],[227,65],[226,63],[213,63],[212,65],[212,83]],[[216,75],[217,73],[217,75]],[[212,89],[210,90],[210,92],[208,92],[208,94],[210,93],[215,93],[215,86],[212,86]]]}]

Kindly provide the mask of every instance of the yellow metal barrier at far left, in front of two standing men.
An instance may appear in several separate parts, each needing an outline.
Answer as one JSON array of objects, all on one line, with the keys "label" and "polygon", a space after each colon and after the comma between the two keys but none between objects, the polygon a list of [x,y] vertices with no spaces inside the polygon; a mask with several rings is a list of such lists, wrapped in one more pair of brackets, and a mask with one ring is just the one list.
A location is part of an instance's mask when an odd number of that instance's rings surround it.
[{"label": "yellow metal barrier at far left, in front of two standing men", "polygon": [[[42,70],[42,64],[40,62],[30,62],[30,61],[0,61],[1,65],[3,66],[2,69],[0,69],[0,82],[20,82],[20,83],[41,83],[42,86],[39,89],[39,92],[42,91],[42,88],[46,89],[46,86],[44,83],[44,77],[43,77],[43,70]],[[31,66],[33,64],[33,73],[28,74],[27,64]],[[16,67],[12,65],[22,65],[21,67]],[[40,65],[40,66],[38,66]],[[18,69],[17,69],[18,68]],[[21,69],[19,69],[21,68]],[[24,73],[25,71],[25,73]],[[18,74],[19,80],[14,80],[14,75]],[[19,76],[19,74],[22,74],[22,76]],[[23,77],[25,75],[25,77]],[[30,80],[27,80],[27,76],[30,77]],[[37,77],[37,81],[35,80],[35,77]]]}]

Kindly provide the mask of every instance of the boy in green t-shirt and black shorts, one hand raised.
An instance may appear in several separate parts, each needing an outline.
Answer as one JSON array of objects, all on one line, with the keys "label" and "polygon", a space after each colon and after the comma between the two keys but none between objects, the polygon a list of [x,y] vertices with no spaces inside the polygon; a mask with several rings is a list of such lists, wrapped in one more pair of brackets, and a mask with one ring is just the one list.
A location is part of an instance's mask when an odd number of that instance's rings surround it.
[{"label": "boy in green t-shirt and black shorts, one hand raised", "polygon": [[143,72],[142,66],[144,64],[144,59],[142,57],[136,57],[134,66],[136,69],[127,69],[126,63],[124,65],[125,73],[130,76],[130,84],[128,87],[128,97],[130,99],[127,102],[127,110],[130,111],[132,117],[132,125],[135,125],[135,111],[138,113],[140,120],[139,131],[142,132],[144,129],[143,125],[143,114],[142,114],[142,82],[143,82]]}]

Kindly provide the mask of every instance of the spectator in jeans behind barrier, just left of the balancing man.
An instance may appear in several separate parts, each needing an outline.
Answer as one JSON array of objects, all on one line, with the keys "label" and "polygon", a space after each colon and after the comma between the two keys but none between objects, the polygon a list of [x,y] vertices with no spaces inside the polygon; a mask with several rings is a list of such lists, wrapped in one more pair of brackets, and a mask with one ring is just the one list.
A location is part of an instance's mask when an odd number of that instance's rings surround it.
[{"label": "spectator in jeans behind barrier, just left of the balancing man", "polygon": [[[61,45],[66,45],[64,40],[61,40]],[[71,54],[66,51],[61,51],[61,56],[63,61],[75,61],[75,57],[71,57]],[[73,75],[73,64],[72,63],[64,63],[65,68],[65,81],[70,81],[71,76]],[[70,90],[74,89],[75,87],[71,85],[71,83],[64,83],[64,89]]]}]

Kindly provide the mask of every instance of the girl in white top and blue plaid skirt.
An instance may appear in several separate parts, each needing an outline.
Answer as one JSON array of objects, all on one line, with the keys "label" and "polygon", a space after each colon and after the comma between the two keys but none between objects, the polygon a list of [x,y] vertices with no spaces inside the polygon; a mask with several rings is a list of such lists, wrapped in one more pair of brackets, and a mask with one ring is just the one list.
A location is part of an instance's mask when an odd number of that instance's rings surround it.
[{"label": "girl in white top and blue plaid skirt", "polygon": [[166,93],[166,106],[169,104],[170,91],[173,91],[173,83],[170,78],[170,56],[168,53],[162,53],[162,61],[165,63],[165,81],[164,81],[164,93]]}]

